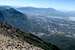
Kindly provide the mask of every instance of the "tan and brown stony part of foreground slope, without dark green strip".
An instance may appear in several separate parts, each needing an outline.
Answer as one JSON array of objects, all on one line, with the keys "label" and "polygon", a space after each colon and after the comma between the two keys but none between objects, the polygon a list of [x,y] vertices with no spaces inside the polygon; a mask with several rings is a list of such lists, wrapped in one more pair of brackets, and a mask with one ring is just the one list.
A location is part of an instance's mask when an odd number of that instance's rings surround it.
[{"label": "tan and brown stony part of foreground slope, without dark green strip", "polygon": [[44,50],[23,41],[16,34],[16,29],[0,24],[0,50]]}]

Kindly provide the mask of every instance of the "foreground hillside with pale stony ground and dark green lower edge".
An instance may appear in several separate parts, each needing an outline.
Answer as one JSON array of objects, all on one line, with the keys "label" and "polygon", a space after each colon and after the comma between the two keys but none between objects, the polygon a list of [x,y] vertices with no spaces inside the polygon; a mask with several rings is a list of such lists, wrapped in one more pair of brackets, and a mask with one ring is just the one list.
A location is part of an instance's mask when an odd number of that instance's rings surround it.
[{"label": "foreground hillside with pale stony ground and dark green lower edge", "polygon": [[6,23],[0,24],[1,50],[59,50],[31,33],[25,33]]}]

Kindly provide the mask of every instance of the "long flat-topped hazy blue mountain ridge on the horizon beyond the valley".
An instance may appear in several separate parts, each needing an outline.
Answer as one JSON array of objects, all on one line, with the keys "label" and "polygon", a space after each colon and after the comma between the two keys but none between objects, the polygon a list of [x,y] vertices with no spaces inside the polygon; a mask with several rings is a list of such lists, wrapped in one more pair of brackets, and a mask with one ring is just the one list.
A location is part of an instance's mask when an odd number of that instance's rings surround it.
[{"label": "long flat-topped hazy blue mountain ridge on the horizon beyond the valley", "polygon": [[66,16],[64,12],[58,11],[53,8],[34,8],[34,7],[21,7],[17,8],[17,10],[21,11],[25,14],[31,15],[43,15],[43,16]]}]

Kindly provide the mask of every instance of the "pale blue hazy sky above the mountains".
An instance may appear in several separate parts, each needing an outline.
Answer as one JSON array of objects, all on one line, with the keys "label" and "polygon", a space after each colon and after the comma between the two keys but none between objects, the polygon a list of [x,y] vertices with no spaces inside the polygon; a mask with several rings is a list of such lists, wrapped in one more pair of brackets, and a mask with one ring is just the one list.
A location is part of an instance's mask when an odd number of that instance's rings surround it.
[{"label": "pale blue hazy sky above the mountains", "polygon": [[75,11],[75,0],[0,0],[0,5],[32,6]]}]

